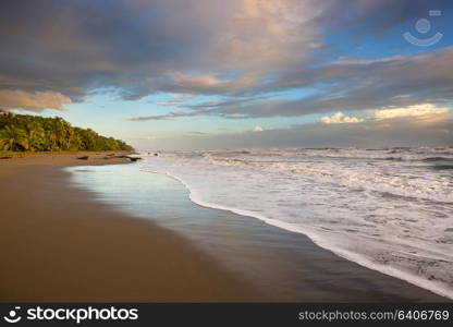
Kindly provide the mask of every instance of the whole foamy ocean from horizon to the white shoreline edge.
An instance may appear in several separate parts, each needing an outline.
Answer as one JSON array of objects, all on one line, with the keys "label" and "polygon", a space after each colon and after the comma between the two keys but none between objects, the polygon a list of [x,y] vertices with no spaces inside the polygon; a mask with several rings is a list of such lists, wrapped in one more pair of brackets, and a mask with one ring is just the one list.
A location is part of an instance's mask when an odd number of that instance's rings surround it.
[{"label": "whole foamy ocean from horizon to the white shoreline edge", "polygon": [[142,152],[201,206],[307,235],[453,299],[453,148]]}]

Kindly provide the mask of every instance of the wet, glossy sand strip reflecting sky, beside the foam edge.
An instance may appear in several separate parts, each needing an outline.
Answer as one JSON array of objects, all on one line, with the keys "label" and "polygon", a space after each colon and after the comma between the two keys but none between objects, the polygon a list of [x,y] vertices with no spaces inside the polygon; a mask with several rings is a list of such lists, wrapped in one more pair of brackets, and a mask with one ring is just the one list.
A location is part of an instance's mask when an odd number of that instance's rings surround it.
[{"label": "wet, glossy sand strip reflecting sky, beside the foam edge", "polygon": [[73,181],[93,191],[99,203],[175,231],[271,301],[449,301],[343,259],[304,234],[198,206],[180,182],[140,171],[139,164],[71,170]]}]

